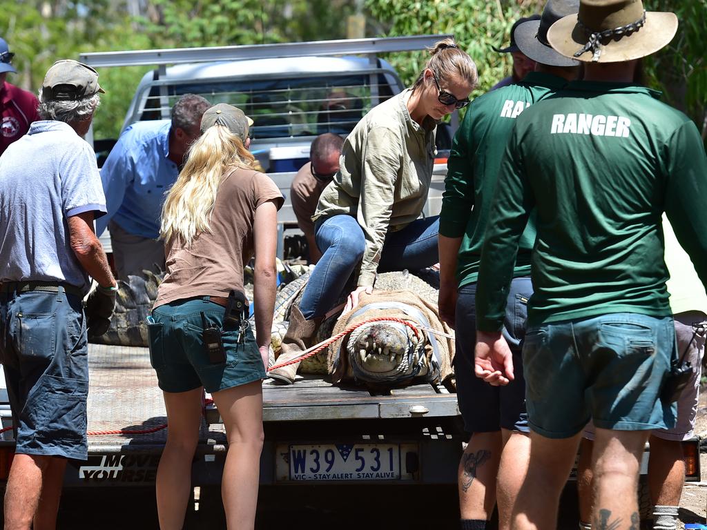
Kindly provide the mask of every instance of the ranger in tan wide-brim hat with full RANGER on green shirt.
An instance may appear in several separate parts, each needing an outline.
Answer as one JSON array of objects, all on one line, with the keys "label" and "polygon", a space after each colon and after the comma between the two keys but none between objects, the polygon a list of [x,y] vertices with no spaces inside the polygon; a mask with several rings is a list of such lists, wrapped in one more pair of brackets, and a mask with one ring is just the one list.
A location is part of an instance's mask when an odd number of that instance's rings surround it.
[{"label": "ranger in tan wide-brim hat with full RANGER on green shirt", "polygon": [[676,30],[673,13],[645,13],[638,0],[580,0],[548,40],[585,61],[585,81],[525,111],[501,164],[477,293],[475,370],[491,384],[513,379],[499,330],[518,240],[537,213],[522,352],[531,461],[514,528],[556,525],[590,418],[592,528],[638,528],[643,445],[674,424],[662,391],[675,335],[661,214],[707,281],[707,160],[694,124],[632,81],[638,59]]}]

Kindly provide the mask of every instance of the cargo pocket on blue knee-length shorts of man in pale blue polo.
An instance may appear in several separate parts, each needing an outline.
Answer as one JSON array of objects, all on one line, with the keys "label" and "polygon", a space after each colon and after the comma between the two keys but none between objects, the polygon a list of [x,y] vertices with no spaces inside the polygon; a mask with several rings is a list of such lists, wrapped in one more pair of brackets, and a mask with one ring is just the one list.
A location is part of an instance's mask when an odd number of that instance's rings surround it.
[{"label": "cargo pocket on blue knee-length shorts of man in pale blue polo", "polygon": [[32,401],[39,406],[35,410],[40,411],[37,435],[73,442],[86,440],[88,379],[45,375],[33,394]]}]

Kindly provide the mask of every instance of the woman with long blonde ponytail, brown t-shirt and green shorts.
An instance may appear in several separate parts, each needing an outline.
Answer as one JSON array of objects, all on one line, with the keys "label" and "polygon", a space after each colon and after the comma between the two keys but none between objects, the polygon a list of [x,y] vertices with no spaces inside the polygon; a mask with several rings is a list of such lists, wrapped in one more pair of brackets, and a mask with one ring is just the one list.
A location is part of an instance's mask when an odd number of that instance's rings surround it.
[{"label": "woman with long blonde ponytail, brown t-shirt and green shorts", "polygon": [[[163,207],[167,273],[149,325],[151,363],[169,425],[156,483],[162,530],[184,524],[204,390],[226,425],[222,498],[228,529],[255,524],[261,379],[275,302],[276,213],[283,198],[271,179],[254,169],[247,151],[251,123],[230,105],[207,110],[202,136]],[[257,342],[250,329],[241,332],[237,322],[224,322],[228,293],[243,291],[243,266],[254,252]],[[211,327],[222,348],[206,347],[205,342],[214,343],[208,332],[204,341],[204,329]]]}]

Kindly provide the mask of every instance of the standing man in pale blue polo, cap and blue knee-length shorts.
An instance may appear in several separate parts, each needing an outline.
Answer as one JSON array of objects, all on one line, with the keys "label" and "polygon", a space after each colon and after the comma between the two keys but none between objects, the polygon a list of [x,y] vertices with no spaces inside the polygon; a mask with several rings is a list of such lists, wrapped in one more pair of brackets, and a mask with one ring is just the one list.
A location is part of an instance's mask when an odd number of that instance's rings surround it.
[{"label": "standing man in pale blue polo, cap and blue knee-length shorts", "polygon": [[[17,442],[8,530],[54,528],[66,459],[88,457],[87,332],[107,331],[117,290],[93,233],[105,213],[95,153],[81,139],[100,92],[90,66],[57,61],[41,121],[0,157],[0,362]],[[89,275],[98,288],[84,313]]]}]

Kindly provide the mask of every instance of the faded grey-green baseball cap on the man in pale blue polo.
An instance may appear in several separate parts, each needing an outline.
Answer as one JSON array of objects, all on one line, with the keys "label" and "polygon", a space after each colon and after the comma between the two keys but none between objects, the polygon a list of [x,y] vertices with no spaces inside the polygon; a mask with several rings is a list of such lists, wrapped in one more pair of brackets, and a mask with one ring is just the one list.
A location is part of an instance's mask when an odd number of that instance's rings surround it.
[{"label": "faded grey-green baseball cap on the man in pale blue polo", "polygon": [[98,72],[87,64],[62,59],[47,70],[42,82],[42,100],[76,101],[105,93],[98,84]]}]

